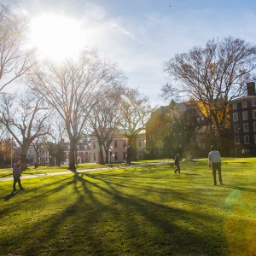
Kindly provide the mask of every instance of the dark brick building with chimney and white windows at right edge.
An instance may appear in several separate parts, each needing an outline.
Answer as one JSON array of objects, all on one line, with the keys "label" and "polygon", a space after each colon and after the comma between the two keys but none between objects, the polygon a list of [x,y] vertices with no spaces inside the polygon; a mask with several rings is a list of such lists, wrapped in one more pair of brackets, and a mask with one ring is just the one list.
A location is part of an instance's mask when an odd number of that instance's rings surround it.
[{"label": "dark brick building with chimney and white windows at right edge", "polygon": [[232,154],[256,155],[256,93],[255,83],[247,83],[247,96],[230,104],[230,125],[233,131]]}]

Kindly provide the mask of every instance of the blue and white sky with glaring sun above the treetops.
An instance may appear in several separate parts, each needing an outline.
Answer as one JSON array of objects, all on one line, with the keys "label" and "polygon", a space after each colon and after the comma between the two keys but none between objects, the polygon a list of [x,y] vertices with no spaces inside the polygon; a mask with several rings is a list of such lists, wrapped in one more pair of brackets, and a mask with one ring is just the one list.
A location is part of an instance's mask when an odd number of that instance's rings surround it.
[{"label": "blue and white sky with glaring sun above the treetops", "polygon": [[60,58],[96,47],[116,61],[128,85],[167,105],[163,61],[207,40],[233,36],[256,44],[255,0],[18,0],[32,20],[31,41]]}]

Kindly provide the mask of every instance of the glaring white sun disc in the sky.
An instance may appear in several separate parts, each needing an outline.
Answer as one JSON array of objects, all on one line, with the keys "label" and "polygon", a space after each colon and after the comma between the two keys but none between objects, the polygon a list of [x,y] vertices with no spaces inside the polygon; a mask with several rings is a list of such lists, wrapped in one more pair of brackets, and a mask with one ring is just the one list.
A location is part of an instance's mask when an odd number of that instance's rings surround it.
[{"label": "glaring white sun disc in the sky", "polygon": [[84,30],[79,20],[65,15],[44,14],[30,21],[29,44],[41,57],[63,61],[84,47]]}]

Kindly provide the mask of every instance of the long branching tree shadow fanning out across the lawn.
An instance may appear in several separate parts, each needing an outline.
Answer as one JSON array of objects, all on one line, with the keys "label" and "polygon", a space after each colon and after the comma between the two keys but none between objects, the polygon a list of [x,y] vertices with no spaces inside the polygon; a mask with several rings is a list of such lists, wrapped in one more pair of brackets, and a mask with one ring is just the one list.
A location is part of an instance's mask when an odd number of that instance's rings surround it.
[{"label": "long branching tree shadow fanning out across the lawn", "polygon": [[[4,242],[12,250],[6,252],[24,255],[33,252],[40,255],[81,255],[81,252],[83,255],[224,255],[220,253],[222,248],[214,244],[224,244],[224,236],[215,236],[213,232],[205,236],[195,231],[197,227],[210,230],[215,219],[166,205],[168,201],[160,201],[158,196],[172,195],[173,200],[178,197],[183,202],[189,199],[172,188],[152,187],[152,183],[156,183],[154,178],[139,177],[139,180],[133,176],[132,173],[116,177],[74,172],[73,177],[38,187],[53,186],[29,199],[30,203],[44,201],[48,195],[58,195],[63,200],[65,189],[70,186],[74,201],[54,215],[38,218],[36,223],[28,223],[26,229],[8,236]],[[172,196],[168,198],[172,200]],[[26,199],[20,203],[25,202]],[[14,245],[13,241],[21,244]]]}]

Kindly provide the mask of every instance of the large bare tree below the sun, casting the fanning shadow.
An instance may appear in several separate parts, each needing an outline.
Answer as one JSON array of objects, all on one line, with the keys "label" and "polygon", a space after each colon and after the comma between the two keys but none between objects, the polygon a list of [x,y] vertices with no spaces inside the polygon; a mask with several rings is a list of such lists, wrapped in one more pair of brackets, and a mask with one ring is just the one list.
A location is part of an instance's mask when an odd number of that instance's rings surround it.
[{"label": "large bare tree below the sun, casting the fanning shadow", "polygon": [[32,90],[49,102],[65,121],[71,170],[76,170],[76,144],[91,109],[122,78],[123,74],[116,65],[102,61],[94,50],[84,50],[78,60],[61,64],[47,62],[31,73],[28,81]]}]

